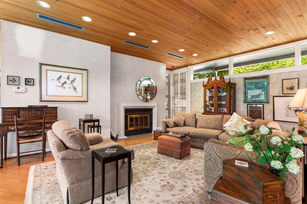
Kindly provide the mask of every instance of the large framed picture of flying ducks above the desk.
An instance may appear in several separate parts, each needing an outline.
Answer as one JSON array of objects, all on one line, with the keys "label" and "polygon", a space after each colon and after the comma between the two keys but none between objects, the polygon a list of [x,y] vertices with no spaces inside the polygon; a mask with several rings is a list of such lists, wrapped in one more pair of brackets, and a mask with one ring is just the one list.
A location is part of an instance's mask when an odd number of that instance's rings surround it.
[{"label": "large framed picture of flying ducks above the desk", "polygon": [[87,102],[87,69],[39,65],[40,101]]}]

